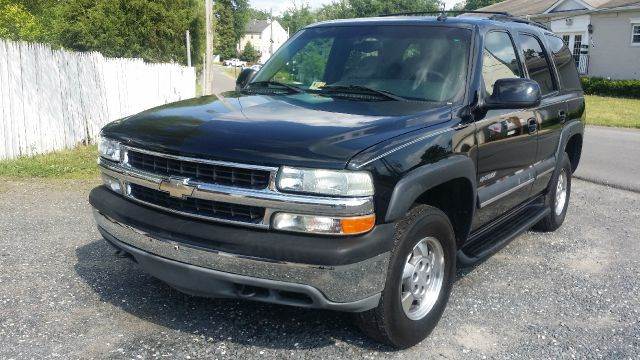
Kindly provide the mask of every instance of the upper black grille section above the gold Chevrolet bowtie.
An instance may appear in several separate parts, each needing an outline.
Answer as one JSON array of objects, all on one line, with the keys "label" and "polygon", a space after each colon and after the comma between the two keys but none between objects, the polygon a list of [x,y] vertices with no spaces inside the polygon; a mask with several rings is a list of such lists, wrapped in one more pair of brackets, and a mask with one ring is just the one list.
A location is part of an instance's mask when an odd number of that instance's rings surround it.
[{"label": "upper black grille section above the gold Chevrolet bowtie", "polygon": [[127,154],[131,167],[160,176],[179,176],[203,183],[246,189],[265,189],[269,186],[270,173],[265,170],[169,159],[135,150],[129,150]]}]

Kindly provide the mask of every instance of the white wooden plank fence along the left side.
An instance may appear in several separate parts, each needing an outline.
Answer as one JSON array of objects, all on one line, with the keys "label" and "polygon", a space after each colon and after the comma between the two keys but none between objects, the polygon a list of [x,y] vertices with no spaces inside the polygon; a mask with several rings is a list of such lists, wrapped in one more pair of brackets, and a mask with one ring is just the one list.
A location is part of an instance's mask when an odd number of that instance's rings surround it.
[{"label": "white wooden plank fence along the left side", "polygon": [[102,126],[192,98],[193,68],[0,39],[0,159],[71,148]]}]

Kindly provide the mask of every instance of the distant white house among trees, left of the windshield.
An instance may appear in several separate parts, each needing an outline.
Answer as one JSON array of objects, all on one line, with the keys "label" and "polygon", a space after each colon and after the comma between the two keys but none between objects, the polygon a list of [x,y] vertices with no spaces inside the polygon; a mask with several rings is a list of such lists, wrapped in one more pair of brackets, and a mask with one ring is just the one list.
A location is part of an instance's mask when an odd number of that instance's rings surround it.
[{"label": "distant white house among trees, left of the windshield", "polygon": [[251,20],[245,35],[240,39],[238,51],[244,50],[248,43],[260,51],[260,63],[264,64],[273,53],[289,39],[289,33],[276,20]]}]

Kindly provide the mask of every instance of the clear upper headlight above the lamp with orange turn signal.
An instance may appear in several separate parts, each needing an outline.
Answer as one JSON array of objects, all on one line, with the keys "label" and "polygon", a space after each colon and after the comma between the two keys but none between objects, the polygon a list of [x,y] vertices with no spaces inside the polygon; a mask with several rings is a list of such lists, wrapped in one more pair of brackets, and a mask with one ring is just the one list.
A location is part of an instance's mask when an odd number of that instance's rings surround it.
[{"label": "clear upper headlight above the lamp with orange turn signal", "polygon": [[332,196],[372,196],[373,180],[371,174],[364,171],[282,167],[278,173],[278,189]]}]

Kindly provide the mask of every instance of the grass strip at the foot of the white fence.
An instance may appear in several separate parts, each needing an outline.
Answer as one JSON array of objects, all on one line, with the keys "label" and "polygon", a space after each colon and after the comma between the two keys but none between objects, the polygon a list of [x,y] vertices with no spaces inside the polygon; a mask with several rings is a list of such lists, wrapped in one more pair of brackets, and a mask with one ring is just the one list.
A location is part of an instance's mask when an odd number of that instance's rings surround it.
[{"label": "grass strip at the foot of the white fence", "polygon": [[0,161],[0,177],[8,179],[97,179],[96,146],[79,146],[50,154]]}]

